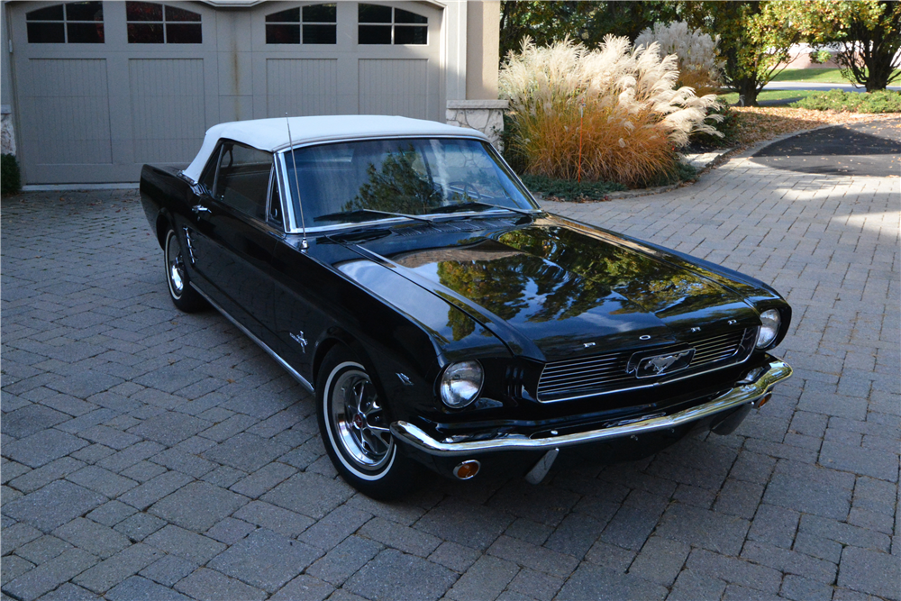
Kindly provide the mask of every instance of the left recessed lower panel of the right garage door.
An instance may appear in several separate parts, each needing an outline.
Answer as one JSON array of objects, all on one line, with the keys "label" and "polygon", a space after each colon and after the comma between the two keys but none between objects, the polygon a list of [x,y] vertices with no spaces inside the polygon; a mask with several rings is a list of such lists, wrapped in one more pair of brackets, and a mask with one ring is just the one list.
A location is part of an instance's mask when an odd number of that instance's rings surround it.
[{"label": "left recessed lower panel of the right garage door", "polygon": [[338,114],[337,59],[267,59],[268,117]]}]

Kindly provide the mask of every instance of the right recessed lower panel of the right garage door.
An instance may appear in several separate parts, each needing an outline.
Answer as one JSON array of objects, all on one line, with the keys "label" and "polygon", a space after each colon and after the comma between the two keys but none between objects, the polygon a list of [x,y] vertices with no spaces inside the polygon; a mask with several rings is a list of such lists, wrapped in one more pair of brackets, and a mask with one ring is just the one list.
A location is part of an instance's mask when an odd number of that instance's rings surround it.
[{"label": "right recessed lower panel of the right garage door", "polygon": [[359,113],[427,119],[427,59],[360,59]]}]

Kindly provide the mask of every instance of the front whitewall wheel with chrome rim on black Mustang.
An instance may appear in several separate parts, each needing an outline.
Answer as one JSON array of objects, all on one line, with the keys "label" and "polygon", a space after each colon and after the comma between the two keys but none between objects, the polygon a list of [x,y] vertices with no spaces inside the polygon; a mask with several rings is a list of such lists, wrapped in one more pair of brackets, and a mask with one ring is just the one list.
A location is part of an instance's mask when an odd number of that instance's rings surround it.
[{"label": "front whitewall wheel with chrome rim on black Mustang", "polygon": [[378,499],[396,498],[414,487],[420,466],[398,451],[369,373],[344,347],[323,360],[316,407],[325,451],[350,486]]}]

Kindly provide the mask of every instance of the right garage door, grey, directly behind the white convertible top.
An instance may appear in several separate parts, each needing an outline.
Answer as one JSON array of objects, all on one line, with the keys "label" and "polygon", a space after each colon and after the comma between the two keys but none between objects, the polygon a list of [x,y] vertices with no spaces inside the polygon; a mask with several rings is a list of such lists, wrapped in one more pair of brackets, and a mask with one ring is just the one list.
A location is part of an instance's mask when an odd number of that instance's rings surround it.
[{"label": "right garage door, grey, directly behind the white convertible top", "polygon": [[259,5],[253,116],[399,114],[443,122],[442,17],[420,2]]}]

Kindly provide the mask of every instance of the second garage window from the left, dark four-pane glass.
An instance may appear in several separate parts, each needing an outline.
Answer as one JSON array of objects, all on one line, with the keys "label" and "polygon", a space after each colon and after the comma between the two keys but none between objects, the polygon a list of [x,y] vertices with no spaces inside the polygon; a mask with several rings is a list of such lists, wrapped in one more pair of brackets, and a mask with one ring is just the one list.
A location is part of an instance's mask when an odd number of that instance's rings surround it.
[{"label": "second garage window from the left, dark four-pane glass", "polygon": [[152,2],[126,2],[130,44],[202,44],[200,14]]}]

